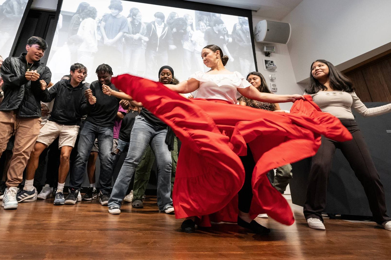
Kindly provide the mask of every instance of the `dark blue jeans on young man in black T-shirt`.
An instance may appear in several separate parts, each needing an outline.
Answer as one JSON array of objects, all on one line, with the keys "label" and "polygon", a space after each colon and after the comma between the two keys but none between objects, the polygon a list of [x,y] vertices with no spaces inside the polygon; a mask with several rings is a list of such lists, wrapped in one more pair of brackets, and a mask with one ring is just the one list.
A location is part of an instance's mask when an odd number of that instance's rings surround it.
[{"label": "dark blue jeans on young man in black T-shirt", "polygon": [[90,156],[95,138],[98,138],[100,174],[99,186],[102,193],[110,194],[111,177],[113,175],[113,127],[102,127],[84,121],[77,143],[77,157],[70,177],[71,188],[80,188],[86,173],[88,156]]}]

